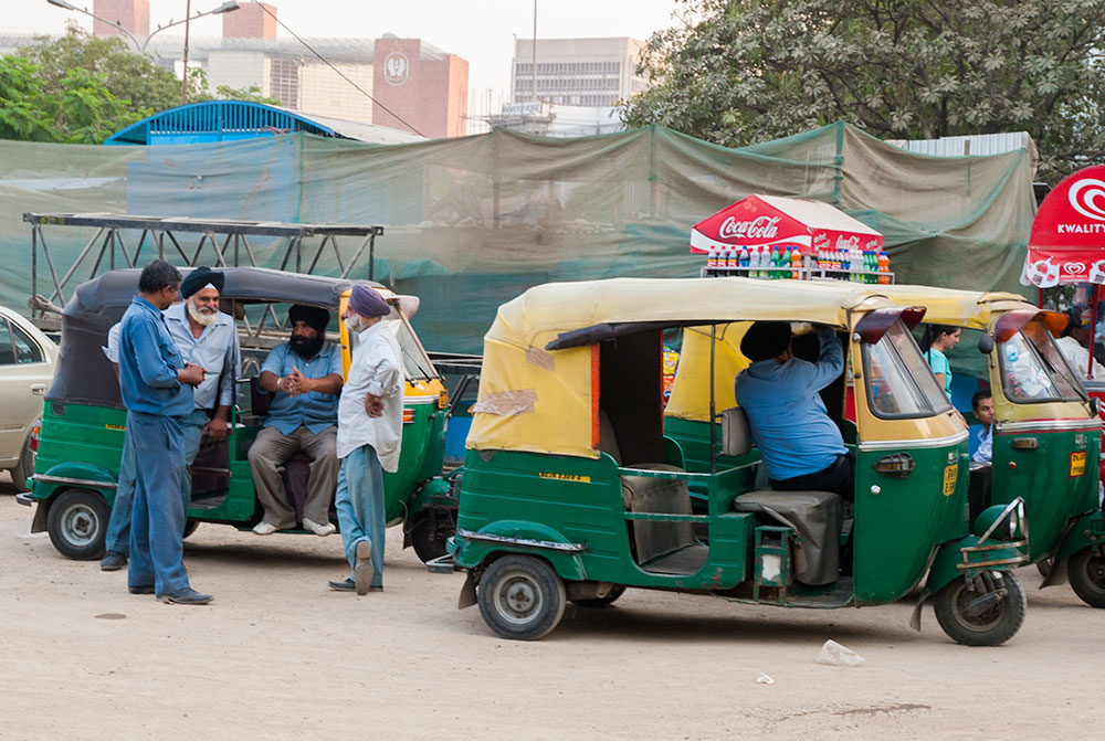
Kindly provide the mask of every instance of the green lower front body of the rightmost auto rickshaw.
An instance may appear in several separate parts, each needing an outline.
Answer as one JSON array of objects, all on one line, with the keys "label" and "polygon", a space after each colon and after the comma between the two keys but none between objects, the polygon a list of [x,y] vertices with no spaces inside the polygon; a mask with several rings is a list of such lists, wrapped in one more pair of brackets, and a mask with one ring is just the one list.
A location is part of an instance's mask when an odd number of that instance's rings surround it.
[{"label": "green lower front body of the rightmost auto rickshaw", "polygon": [[[1013,447],[1029,438],[1036,448]],[[994,433],[990,501],[1024,499],[1031,563],[1055,553],[1072,518],[1098,509],[1101,441],[1101,433],[1069,430]]]}]

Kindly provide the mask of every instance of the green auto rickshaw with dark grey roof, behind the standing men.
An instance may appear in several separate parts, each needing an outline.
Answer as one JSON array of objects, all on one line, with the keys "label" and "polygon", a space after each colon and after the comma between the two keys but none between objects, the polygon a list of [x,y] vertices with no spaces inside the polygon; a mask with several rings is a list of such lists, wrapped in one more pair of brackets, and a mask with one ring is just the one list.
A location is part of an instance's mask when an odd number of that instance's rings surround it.
[{"label": "green auto rickshaw with dark grey roof, behind the standing men", "polygon": [[[222,308],[235,317],[242,346],[240,389],[225,441],[204,441],[191,466],[192,499],[186,536],[200,522],[252,528],[263,514],[257,501],[248,452],[263,424],[265,394],[255,377],[269,349],[287,339],[281,327],[288,305],[329,310],[339,328],[330,332],[340,342],[343,371],[351,353],[345,322],[337,320],[357,283],[371,285],[392,306],[388,318],[402,349],[407,371],[403,437],[399,469],[383,476],[389,523],[403,523],[404,544],[430,560],[445,552],[456,508],[455,487],[442,476],[444,419],[448,394],[433,363],[411,328],[409,317],[418,299],[399,296],[370,282],[285,273],[260,267],[225,267]],[[188,268],[181,272],[187,274]],[[35,505],[33,532],[45,530],[54,547],[72,559],[94,559],[104,540],[126,430],[126,410],[119,385],[104,352],[107,334],[137,292],[140,271],[104,273],[81,285],[62,316],[61,357],[42,412],[35,474],[31,491],[19,497]],[[234,371],[235,373],[238,371]],[[302,521],[303,495],[309,459],[286,464],[290,505]],[[332,514],[332,521],[337,518]],[[296,532],[306,532],[298,529]]]}]

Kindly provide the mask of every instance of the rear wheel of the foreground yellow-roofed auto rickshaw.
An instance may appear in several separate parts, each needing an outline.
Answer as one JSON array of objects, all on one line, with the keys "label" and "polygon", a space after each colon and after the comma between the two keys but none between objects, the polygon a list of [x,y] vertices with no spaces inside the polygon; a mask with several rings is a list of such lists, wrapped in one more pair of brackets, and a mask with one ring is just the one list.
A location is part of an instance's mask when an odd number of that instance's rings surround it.
[{"label": "rear wheel of the foreground yellow-roofed auto rickshaw", "polygon": [[536,641],[564,617],[564,582],[544,559],[512,553],[487,567],[480,579],[480,614],[498,635]]}]

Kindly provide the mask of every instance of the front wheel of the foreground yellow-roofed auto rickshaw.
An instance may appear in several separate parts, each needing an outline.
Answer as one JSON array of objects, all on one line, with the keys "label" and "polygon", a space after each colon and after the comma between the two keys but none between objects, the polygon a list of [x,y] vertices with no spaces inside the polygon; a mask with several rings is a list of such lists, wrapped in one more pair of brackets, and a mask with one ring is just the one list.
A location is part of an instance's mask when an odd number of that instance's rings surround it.
[{"label": "front wheel of the foreground yellow-roofed auto rickshaw", "polygon": [[[977,615],[968,612],[975,600],[998,589],[1006,590],[1004,596]],[[970,582],[955,579],[936,593],[933,606],[944,632],[965,646],[1000,646],[1017,634],[1028,611],[1024,590],[1008,571],[985,573]]]}]

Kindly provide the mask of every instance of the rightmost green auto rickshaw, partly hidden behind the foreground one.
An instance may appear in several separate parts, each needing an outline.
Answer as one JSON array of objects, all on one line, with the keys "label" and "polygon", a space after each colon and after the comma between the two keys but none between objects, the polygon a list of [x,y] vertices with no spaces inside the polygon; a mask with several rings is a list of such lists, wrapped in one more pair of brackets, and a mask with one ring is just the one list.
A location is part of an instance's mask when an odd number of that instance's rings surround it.
[{"label": "rightmost green auto rickshaw, partly hidden behind the foreground one", "polygon": [[1067,317],[1015,294],[882,288],[896,304],[925,306],[926,322],[981,331],[978,348],[987,359],[994,411],[990,502],[1024,500],[1032,522],[1029,561],[1050,567],[1042,586],[1065,575],[1086,604],[1105,607],[1102,422],[1097,400],[1054,340]]}]

